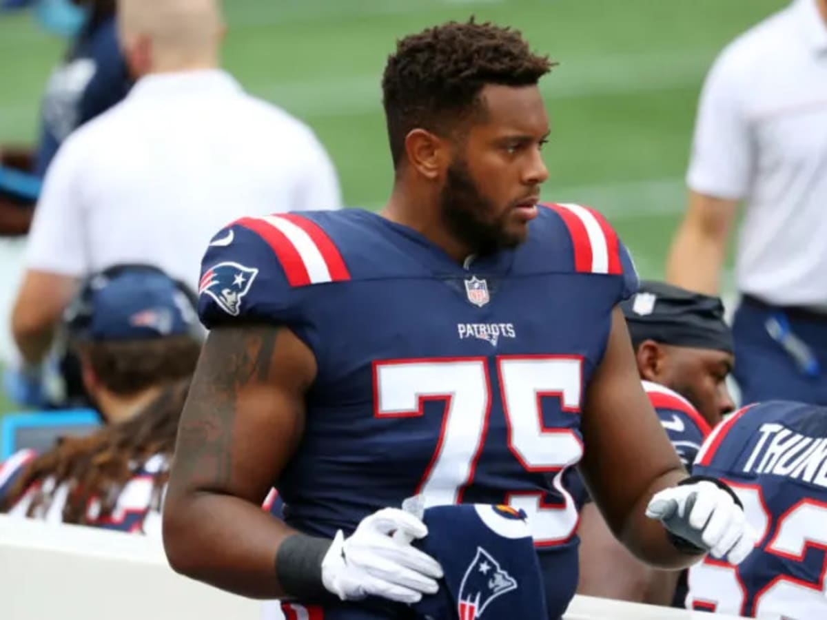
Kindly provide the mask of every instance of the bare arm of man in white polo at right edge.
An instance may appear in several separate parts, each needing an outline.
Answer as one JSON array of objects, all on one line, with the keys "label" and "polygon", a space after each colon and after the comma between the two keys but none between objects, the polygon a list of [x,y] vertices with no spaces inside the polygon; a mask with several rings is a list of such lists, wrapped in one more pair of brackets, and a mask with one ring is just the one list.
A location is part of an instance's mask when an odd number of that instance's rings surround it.
[{"label": "bare arm of man in white polo at right edge", "polygon": [[667,281],[699,293],[718,294],[737,211],[737,200],[690,192],[686,215],[667,260]]}]

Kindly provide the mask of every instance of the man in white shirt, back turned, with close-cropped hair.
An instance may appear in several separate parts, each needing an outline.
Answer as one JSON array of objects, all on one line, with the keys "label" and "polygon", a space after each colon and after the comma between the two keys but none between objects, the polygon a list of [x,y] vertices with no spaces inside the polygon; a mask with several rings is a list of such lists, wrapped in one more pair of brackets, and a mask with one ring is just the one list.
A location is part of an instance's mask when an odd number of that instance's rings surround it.
[{"label": "man in white shirt, back turned, with close-cropped hair", "polygon": [[227,222],[341,206],[313,131],[217,69],[216,0],[120,0],[118,21],[140,79],[69,137],[46,174],[12,315],[30,366],[84,274],[152,264],[197,289],[203,247]]}]

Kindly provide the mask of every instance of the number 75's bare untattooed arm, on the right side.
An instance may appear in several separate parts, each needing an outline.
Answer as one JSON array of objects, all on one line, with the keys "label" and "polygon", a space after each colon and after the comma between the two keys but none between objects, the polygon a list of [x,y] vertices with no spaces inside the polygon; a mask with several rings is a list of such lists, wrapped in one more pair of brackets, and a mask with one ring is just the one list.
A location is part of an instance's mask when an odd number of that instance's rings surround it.
[{"label": "number 75's bare untattooed arm, on the right side", "polygon": [[585,404],[581,474],[614,536],[649,565],[696,562],[698,556],[677,551],[660,522],[645,515],[653,494],[686,478],[686,470],[643,392],[619,308]]}]

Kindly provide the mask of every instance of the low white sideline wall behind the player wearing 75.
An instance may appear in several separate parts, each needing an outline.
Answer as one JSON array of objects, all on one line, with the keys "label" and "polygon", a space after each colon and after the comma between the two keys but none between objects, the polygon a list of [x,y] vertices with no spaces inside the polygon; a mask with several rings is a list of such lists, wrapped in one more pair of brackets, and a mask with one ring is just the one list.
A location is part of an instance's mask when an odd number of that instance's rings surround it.
[{"label": "low white sideline wall behind the player wearing 75", "polygon": [[[262,620],[244,599],[176,575],[160,541],[91,527],[0,515],[3,620]],[[575,597],[565,620],[732,620],[605,599]]]}]

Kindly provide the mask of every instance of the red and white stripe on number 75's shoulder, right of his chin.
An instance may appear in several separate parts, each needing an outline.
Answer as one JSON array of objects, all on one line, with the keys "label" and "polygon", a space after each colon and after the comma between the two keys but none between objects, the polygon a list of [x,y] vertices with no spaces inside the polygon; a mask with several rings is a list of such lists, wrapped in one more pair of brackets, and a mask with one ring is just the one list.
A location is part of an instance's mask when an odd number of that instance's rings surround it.
[{"label": "red and white stripe on number 75's shoulder, right of his chin", "polygon": [[617,233],[600,212],[580,204],[543,204],[557,212],[568,228],[574,246],[578,273],[621,274],[620,242]]}]

